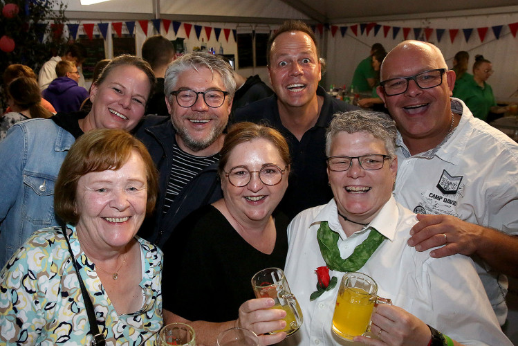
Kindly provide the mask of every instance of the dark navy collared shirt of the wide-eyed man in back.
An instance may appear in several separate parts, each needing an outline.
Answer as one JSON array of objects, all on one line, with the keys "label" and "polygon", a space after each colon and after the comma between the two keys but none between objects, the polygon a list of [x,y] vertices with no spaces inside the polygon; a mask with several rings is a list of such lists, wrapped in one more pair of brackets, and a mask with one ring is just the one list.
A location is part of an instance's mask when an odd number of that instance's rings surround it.
[{"label": "dark navy collared shirt of the wide-eyed man in back", "polygon": [[279,208],[290,219],[304,209],[320,206],[333,198],[326,172],[326,129],[337,111],[358,109],[332,98],[322,86],[318,87],[317,95],[324,97],[320,116],[315,126],[306,131],[300,142],[282,125],[279,107],[277,107],[277,95],[237,109],[234,116],[234,122],[251,121],[275,127],[288,141],[293,162],[288,189]]}]

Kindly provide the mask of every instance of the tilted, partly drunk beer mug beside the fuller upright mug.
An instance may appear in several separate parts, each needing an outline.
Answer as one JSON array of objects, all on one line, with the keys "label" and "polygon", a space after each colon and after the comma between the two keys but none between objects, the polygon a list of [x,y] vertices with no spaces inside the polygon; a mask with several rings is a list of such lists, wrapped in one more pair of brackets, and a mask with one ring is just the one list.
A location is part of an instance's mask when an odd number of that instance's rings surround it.
[{"label": "tilted, partly drunk beer mug beside the fuller upright mug", "polygon": [[273,298],[275,305],[271,309],[286,311],[286,327],[270,334],[286,331],[290,336],[302,326],[302,311],[297,298],[290,291],[284,271],[280,268],[266,268],[252,277],[252,288],[257,298]]}]

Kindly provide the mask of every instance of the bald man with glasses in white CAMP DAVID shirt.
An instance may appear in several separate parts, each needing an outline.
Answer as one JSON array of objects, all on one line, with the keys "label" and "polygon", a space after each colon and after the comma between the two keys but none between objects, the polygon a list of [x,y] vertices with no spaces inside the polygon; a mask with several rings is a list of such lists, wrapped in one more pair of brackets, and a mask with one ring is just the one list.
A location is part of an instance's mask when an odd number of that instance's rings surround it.
[{"label": "bald man with glasses in white CAMP DAVID shirt", "polygon": [[518,276],[518,144],[451,98],[454,82],[432,44],[405,41],[385,57],[378,95],[398,127],[394,197],[418,214],[409,246],[472,257],[503,325],[504,274]]}]

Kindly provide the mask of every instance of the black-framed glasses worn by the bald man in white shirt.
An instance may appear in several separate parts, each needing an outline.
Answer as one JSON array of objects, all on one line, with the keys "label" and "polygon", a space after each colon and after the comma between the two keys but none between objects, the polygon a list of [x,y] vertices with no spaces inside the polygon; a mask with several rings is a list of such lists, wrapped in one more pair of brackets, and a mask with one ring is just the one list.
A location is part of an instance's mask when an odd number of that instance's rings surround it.
[{"label": "black-framed glasses worn by the bald man in white shirt", "polygon": [[387,96],[405,93],[411,80],[416,82],[420,89],[435,88],[443,82],[443,74],[446,71],[447,69],[434,69],[411,75],[410,77],[391,78],[380,82],[380,86],[385,90],[385,95]]}]

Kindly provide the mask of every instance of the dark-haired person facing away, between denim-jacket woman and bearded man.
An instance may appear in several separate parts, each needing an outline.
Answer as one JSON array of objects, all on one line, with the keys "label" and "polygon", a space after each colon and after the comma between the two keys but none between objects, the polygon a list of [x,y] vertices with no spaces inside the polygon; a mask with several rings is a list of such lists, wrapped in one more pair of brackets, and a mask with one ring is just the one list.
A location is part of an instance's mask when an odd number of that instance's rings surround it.
[{"label": "dark-haired person facing away, between denim-jacket woman and bearded man", "polygon": [[165,104],[164,75],[175,54],[173,43],[161,35],[148,37],[142,44],[142,59],[149,62],[156,76],[156,86],[147,104],[147,114],[169,116]]}]

